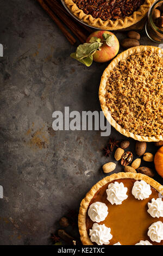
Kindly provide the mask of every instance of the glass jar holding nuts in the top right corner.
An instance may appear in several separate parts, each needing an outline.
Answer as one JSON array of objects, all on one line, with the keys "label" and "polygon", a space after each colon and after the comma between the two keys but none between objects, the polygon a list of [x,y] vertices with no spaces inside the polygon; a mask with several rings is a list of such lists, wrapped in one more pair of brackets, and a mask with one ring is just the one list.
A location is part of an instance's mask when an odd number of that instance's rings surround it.
[{"label": "glass jar holding nuts in the top right corner", "polygon": [[[163,0],[158,0],[151,5],[148,11],[148,21],[146,23],[146,33],[154,42],[163,42],[163,27],[156,26],[156,20],[153,19],[153,11],[163,5]],[[163,13],[163,11],[162,11]]]}]

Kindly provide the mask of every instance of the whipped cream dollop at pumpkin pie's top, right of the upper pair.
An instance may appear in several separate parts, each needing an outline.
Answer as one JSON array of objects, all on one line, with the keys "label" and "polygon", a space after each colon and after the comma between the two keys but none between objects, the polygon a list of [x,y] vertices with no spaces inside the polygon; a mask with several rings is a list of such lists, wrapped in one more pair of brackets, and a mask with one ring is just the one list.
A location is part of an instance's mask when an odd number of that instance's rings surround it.
[{"label": "whipped cream dollop at pumpkin pie's top, right of the upper pair", "polygon": [[135,181],[132,194],[136,199],[143,200],[146,199],[152,194],[151,186],[146,183],[146,181]]}]

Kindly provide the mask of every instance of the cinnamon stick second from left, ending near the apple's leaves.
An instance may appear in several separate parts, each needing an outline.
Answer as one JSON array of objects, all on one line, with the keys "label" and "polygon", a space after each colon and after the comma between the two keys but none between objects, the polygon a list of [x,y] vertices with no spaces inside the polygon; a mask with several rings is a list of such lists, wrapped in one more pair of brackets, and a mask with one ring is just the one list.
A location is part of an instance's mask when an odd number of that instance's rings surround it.
[{"label": "cinnamon stick second from left, ending near the apple's leaves", "polygon": [[[57,1],[55,1],[57,2]],[[49,8],[53,10],[55,14],[65,23],[65,25],[73,32],[74,35],[84,44],[87,39],[87,35],[82,32],[79,26],[70,18],[68,17],[61,9],[57,8],[57,4],[54,3],[53,0],[46,0],[47,5]]]}]

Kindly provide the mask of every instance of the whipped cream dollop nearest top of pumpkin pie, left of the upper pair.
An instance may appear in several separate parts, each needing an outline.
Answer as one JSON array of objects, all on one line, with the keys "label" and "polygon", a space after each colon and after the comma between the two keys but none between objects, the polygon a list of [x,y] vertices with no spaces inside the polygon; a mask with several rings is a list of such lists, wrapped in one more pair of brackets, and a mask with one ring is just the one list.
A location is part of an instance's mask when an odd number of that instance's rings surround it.
[{"label": "whipped cream dollop nearest top of pumpkin pie, left of the upper pair", "polygon": [[111,204],[122,204],[123,200],[128,198],[127,196],[127,187],[124,187],[124,184],[118,183],[111,183],[108,185],[108,189],[106,190],[107,199]]}]

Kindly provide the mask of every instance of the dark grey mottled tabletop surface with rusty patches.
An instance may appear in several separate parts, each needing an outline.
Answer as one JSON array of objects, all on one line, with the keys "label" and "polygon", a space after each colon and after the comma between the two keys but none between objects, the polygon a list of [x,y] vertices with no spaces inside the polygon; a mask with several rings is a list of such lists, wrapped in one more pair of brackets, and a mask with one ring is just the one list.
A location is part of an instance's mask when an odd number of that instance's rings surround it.
[{"label": "dark grey mottled tabletop surface with rusty patches", "polygon": [[[36,1],[0,0],[0,9],[0,245],[48,245],[59,218],[78,211],[108,161],[102,153],[107,137],[100,131],[54,132],[52,113],[65,106],[100,111],[98,87],[108,63],[86,68],[71,59],[75,47]],[[140,43],[157,45],[145,32]],[[114,129],[111,136],[124,138]],[[148,144],[148,151],[155,150]]]}]

